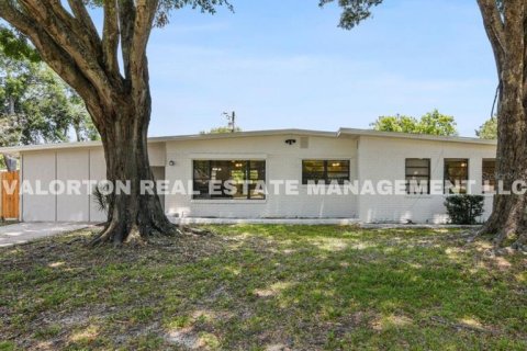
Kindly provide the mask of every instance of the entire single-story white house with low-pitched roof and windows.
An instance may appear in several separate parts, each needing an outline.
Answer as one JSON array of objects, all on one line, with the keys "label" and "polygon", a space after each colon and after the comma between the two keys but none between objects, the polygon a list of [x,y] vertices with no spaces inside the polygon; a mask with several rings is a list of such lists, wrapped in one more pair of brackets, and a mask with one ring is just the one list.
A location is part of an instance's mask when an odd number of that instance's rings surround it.
[{"label": "entire single-story white house with low-pitched roof and windows", "polygon": [[[37,182],[46,190],[56,181],[104,180],[100,143],[24,146],[2,148],[0,152],[20,157],[22,184],[32,185],[33,193],[21,186],[21,220],[104,220],[105,214],[98,208],[89,186],[82,186],[80,194],[34,193]],[[169,184],[161,202],[171,218],[446,223],[444,201],[449,191],[433,192],[431,183],[469,181],[471,186],[462,186],[462,191],[485,194],[483,220],[492,208],[495,154],[493,140],[348,128],[336,133],[281,129],[149,139],[156,179]],[[400,180],[427,185],[390,192],[390,184]],[[239,191],[233,194],[228,186],[211,186],[225,181],[236,183]],[[267,193],[257,189],[259,181],[266,182]],[[310,188],[313,181],[327,184]],[[178,182],[178,186],[172,185]],[[347,182],[355,182],[362,192],[338,193],[332,188]],[[372,185],[363,192],[368,182]]]}]

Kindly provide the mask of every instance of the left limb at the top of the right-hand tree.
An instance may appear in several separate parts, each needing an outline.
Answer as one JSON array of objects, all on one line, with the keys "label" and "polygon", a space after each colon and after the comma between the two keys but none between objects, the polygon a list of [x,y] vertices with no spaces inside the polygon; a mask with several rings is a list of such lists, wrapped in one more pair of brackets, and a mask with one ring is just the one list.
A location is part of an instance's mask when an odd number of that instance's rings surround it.
[{"label": "left limb at the top of the right-hand tree", "polygon": [[501,79],[506,53],[506,38],[502,15],[500,14],[496,0],[478,0],[478,4],[480,7],[481,15],[483,16],[486,35],[489,36],[494,52],[497,73]]}]

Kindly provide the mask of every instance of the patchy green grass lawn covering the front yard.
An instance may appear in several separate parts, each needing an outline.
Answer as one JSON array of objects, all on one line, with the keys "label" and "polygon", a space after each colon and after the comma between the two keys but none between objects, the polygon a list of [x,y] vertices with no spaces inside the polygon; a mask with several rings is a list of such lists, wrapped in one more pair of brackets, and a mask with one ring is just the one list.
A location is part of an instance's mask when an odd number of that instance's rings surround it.
[{"label": "patchy green grass lawn covering the front yard", "polygon": [[0,350],[526,350],[527,256],[456,230],[217,226],[0,249]]}]

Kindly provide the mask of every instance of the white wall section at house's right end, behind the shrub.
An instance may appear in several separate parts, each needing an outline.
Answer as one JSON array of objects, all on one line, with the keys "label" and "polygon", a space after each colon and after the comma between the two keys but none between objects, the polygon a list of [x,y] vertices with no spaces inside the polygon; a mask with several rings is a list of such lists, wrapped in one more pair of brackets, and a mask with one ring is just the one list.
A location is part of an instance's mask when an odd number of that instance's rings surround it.
[{"label": "white wall section at house's right end, behind the shrub", "polygon": [[[481,194],[482,159],[495,158],[492,145],[444,143],[385,137],[359,140],[359,181],[404,180],[406,158],[429,158],[430,179],[444,180],[445,158],[469,159],[469,180],[474,180],[472,193]],[[359,197],[360,220],[365,223],[401,222],[445,223],[445,195],[362,195]],[[485,195],[485,214],[492,210],[492,195]]]}]

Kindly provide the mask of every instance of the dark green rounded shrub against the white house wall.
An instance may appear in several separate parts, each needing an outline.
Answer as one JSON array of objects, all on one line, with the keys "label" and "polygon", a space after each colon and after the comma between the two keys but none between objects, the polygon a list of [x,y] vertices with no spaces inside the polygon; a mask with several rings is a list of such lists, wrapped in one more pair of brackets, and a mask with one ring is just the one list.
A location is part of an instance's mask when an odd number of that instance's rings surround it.
[{"label": "dark green rounded shrub against the white house wall", "polygon": [[476,224],[483,214],[483,195],[451,195],[445,200],[445,207],[453,224]]}]

